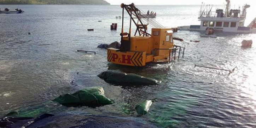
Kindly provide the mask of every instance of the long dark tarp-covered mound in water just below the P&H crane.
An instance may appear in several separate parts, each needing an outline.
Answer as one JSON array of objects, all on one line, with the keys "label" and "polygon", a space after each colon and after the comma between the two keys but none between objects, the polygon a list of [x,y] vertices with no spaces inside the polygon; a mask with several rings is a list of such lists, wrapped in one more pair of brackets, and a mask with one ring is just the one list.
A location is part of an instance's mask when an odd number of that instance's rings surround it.
[{"label": "long dark tarp-covered mound in water just below the P&H crane", "polygon": [[128,85],[157,85],[161,83],[161,81],[157,81],[152,78],[146,78],[133,73],[126,74],[120,70],[103,71],[97,76],[105,80],[107,83],[123,83]]}]

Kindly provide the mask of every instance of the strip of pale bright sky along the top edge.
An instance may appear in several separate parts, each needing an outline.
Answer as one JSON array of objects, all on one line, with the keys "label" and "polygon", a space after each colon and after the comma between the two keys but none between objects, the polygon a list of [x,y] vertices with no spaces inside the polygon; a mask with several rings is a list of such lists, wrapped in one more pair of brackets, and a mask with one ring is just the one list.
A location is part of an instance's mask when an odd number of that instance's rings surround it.
[{"label": "strip of pale bright sky along the top edge", "polygon": [[[225,0],[105,0],[111,5],[134,3],[135,5],[201,5],[202,2],[211,5],[223,5]],[[231,5],[255,5],[256,0],[230,0]]]}]

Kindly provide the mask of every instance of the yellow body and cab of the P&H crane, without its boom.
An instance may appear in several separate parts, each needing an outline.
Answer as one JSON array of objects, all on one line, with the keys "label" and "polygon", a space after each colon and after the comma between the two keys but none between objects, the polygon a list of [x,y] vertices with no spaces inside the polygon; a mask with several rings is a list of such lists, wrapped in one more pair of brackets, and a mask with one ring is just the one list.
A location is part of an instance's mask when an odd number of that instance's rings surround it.
[{"label": "yellow body and cab of the P&H crane, without its boom", "polygon": [[169,62],[173,50],[173,31],[166,28],[153,28],[151,36],[123,36],[121,48],[108,48],[108,62],[145,66],[148,62]]}]

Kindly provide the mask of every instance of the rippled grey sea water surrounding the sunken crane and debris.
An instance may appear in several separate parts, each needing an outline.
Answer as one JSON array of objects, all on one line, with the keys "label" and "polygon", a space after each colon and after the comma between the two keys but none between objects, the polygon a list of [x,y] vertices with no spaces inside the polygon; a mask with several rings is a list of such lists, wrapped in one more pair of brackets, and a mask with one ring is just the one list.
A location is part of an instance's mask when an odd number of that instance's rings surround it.
[{"label": "rippled grey sea water surrounding the sunken crane and debris", "polygon": [[[170,64],[132,68],[110,64],[99,43],[120,41],[120,6],[0,5],[22,8],[23,14],[0,14],[0,115],[19,111],[23,116],[48,112],[85,111],[94,115],[136,117],[135,105],[157,98],[150,113],[140,117],[158,127],[256,127],[256,47],[241,48],[241,41],[256,42],[256,34],[179,31],[185,57]],[[165,27],[199,24],[200,6],[139,6],[157,12]],[[248,9],[248,25],[254,19]],[[125,15],[128,32],[129,19]],[[102,22],[98,22],[102,21]],[[117,23],[118,30],[110,31]],[[87,31],[93,28],[94,31]],[[134,30],[134,29],[133,29]],[[28,32],[31,35],[28,35]],[[51,45],[42,45],[51,44]],[[97,54],[78,53],[91,50]],[[194,68],[194,64],[232,69],[228,72]],[[158,86],[122,87],[97,77],[101,71],[119,69],[162,80]],[[77,74],[79,72],[79,74]],[[72,82],[73,81],[73,82]],[[115,104],[97,108],[68,108],[50,100],[85,87],[103,86]]]}]

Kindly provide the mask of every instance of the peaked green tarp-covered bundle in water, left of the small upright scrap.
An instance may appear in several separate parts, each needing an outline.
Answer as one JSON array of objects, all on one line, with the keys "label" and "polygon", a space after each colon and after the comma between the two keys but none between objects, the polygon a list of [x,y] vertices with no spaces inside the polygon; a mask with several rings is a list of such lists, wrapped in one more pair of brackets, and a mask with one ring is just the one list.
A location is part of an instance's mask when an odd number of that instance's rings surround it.
[{"label": "peaked green tarp-covered bundle in water, left of the small upright scrap", "polygon": [[102,106],[113,104],[113,101],[106,98],[103,87],[89,87],[73,94],[60,95],[53,101],[64,106]]}]

